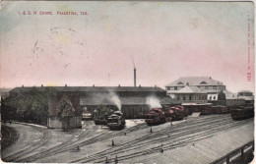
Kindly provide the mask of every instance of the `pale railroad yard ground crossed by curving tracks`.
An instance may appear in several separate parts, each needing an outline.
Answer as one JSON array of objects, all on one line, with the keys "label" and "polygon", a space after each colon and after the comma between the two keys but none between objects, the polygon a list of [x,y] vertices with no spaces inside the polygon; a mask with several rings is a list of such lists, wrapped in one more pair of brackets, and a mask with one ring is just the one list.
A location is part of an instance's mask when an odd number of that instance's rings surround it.
[{"label": "pale railroad yard ground crossed by curving tracks", "polygon": [[[2,147],[5,162],[39,163],[211,163],[253,140],[253,122],[230,114],[193,115],[149,127],[143,119],[126,120],[121,131],[94,121],[64,132],[25,123],[6,125],[17,140]],[[16,131],[14,131],[16,130]],[[3,141],[3,140],[2,140]]]}]

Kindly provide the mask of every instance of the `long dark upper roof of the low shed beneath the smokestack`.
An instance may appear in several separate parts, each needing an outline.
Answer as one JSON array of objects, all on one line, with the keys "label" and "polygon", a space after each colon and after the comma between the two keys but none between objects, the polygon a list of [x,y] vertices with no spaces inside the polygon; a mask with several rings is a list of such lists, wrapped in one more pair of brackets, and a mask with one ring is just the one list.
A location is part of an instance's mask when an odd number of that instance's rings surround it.
[{"label": "long dark upper roof of the low shed beneath the smokestack", "polygon": [[52,88],[56,91],[87,91],[87,92],[119,92],[119,91],[147,91],[147,92],[165,92],[164,89],[160,87],[150,87],[150,86],[39,86],[39,87],[15,87],[10,92],[30,92],[34,91],[45,91],[46,88]]}]

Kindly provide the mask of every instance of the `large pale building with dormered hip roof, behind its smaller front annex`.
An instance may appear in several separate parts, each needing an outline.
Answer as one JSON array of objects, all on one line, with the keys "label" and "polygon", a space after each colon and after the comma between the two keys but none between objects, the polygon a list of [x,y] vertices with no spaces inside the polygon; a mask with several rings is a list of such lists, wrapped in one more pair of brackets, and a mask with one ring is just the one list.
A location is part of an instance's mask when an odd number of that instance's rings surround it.
[{"label": "large pale building with dormered hip roof, behind its smaller front annex", "polygon": [[166,84],[165,90],[168,96],[174,97],[175,93],[186,85],[196,86],[207,93],[218,93],[221,90],[225,90],[223,82],[213,80],[211,77],[181,77],[174,82]]}]

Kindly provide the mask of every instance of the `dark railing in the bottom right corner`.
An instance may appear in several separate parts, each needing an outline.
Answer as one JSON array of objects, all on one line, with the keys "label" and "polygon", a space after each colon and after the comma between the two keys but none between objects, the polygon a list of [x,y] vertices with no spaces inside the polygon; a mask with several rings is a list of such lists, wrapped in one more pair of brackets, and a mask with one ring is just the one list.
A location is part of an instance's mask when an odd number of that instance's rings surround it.
[{"label": "dark railing in the bottom right corner", "polygon": [[242,146],[232,150],[231,152],[229,152],[228,154],[225,154],[223,157],[215,160],[214,162],[210,163],[210,164],[218,164],[218,163],[224,163],[224,159],[225,159],[225,163],[226,164],[230,164],[230,157],[236,155],[239,151],[240,151],[240,156],[241,156],[241,159],[243,160],[244,159],[244,150],[245,148],[249,147],[249,146],[252,146],[252,149],[254,149],[254,140],[251,140],[245,144],[243,144]]}]

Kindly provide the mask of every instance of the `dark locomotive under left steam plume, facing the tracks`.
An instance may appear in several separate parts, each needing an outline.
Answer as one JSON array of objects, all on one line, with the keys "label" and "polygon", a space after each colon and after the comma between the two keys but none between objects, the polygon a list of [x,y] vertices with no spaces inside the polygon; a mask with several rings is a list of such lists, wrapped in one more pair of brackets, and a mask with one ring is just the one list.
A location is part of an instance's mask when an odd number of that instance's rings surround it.
[{"label": "dark locomotive under left steam plume, facing the tracks", "polygon": [[112,115],[107,118],[107,127],[110,130],[120,130],[125,126],[125,119],[123,113],[120,111],[114,112]]}]

